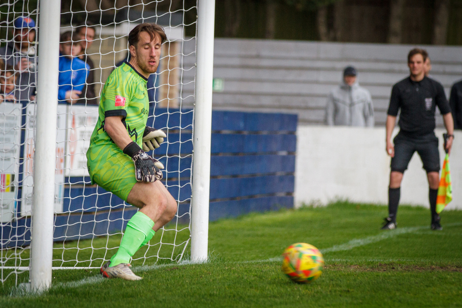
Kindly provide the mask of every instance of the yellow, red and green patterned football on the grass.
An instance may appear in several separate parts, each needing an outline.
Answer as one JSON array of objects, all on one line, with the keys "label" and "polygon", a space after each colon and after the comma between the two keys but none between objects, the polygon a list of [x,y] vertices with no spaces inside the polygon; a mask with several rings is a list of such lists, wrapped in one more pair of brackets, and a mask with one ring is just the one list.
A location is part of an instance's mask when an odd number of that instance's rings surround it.
[{"label": "yellow, red and green patterned football on the grass", "polygon": [[322,274],[324,258],[313,245],[292,244],[285,249],[282,257],[282,272],[294,282],[310,283]]}]

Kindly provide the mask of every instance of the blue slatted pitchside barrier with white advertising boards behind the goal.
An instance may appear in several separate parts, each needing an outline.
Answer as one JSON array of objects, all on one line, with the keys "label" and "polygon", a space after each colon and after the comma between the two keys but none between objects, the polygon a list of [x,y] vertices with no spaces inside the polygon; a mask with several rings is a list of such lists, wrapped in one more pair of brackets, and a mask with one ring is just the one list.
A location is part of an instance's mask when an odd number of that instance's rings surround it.
[{"label": "blue slatted pitchside barrier with white advertising boards behind the goal", "polygon": [[[0,212],[1,247],[25,246],[31,238],[35,105],[21,102],[0,106],[5,109],[0,129],[10,140],[2,146],[14,148],[4,152],[11,152],[10,159],[16,161],[4,163],[1,170],[1,196],[7,199],[2,200]],[[59,105],[57,112],[54,241],[87,239],[123,230],[137,209],[91,185],[85,168],[85,152],[98,107]],[[187,224],[193,111],[150,108],[149,116],[147,125],[167,133],[167,142],[155,151],[154,157],[165,165],[162,181],[172,196],[178,197],[177,216],[180,223]],[[213,111],[210,221],[294,206],[296,129],[295,114]],[[7,165],[17,167],[8,169]],[[6,178],[8,185],[3,180]],[[6,192],[11,196],[5,198]]]}]

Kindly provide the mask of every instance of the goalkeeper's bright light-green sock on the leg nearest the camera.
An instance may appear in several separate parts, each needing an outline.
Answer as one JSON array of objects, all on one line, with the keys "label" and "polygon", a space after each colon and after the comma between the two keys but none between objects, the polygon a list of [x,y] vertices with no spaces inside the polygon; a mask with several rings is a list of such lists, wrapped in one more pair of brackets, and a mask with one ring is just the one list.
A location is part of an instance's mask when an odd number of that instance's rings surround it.
[{"label": "goalkeeper's bright light-green sock on the leg nearest the camera", "polygon": [[133,215],[127,223],[119,250],[110,260],[110,266],[130,262],[130,258],[140,249],[140,245],[146,238],[150,236],[153,226],[154,222],[140,211]]}]

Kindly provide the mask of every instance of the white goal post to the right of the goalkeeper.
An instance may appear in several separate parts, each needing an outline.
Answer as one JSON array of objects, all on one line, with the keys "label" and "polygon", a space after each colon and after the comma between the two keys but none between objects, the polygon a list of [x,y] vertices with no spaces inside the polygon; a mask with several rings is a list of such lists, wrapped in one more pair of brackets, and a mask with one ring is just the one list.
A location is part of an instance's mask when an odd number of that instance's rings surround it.
[{"label": "white goal post to the right of the goalkeeper", "polygon": [[191,260],[207,260],[210,188],[211,107],[214,70],[215,0],[199,0],[197,73],[192,166]]}]

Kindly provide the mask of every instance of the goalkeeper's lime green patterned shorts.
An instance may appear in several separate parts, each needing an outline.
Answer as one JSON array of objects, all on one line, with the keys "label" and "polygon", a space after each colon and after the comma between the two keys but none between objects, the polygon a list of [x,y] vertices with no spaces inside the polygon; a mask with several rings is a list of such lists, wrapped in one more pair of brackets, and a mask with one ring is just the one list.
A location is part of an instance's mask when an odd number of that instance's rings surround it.
[{"label": "goalkeeper's lime green patterned shorts", "polygon": [[133,161],[128,155],[120,151],[110,150],[110,152],[110,156],[105,162],[98,158],[92,161],[87,157],[91,183],[96,183],[127,201],[128,194],[137,183]]}]

